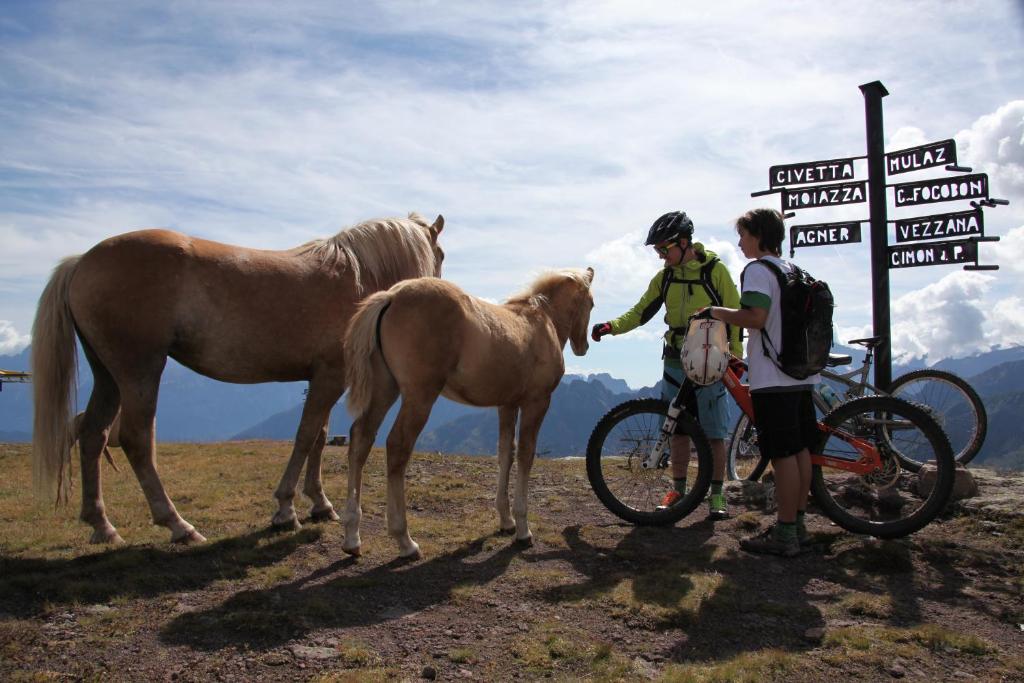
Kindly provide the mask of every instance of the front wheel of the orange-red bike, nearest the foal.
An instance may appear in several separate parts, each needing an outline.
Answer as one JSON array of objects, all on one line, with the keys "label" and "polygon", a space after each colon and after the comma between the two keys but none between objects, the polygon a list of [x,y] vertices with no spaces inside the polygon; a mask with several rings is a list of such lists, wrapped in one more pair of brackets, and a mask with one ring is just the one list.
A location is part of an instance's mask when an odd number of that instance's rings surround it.
[{"label": "front wheel of the orange-red bike, nearest the foal", "polygon": [[689,436],[695,452],[687,469],[692,485],[676,504],[662,507],[673,490],[670,452],[658,454],[657,466],[641,463],[657,443],[669,404],[657,398],[628,400],[601,418],[587,442],[587,477],[597,498],[614,515],[633,524],[674,524],[703,501],[711,486],[711,445],[703,430],[686,413],[676,421],[676,434]]}]

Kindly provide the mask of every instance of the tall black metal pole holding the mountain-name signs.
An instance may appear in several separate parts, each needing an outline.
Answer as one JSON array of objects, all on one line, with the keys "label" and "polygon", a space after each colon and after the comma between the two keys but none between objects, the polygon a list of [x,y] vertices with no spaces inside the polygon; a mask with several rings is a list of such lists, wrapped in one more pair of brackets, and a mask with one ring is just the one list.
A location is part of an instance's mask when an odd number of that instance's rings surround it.
[{"label": "tall black metal pole holding the mountain-name signs", "polygon": [[874,386],[889,390],[892,382],[891,321],[889,316],[889,226],[886,204],[886,140],[882,98],[889,94],[881,81],[860,86],[864,95],[867,133],[867,202],[871,227],[871,322],[883,341],[874,351]]}]

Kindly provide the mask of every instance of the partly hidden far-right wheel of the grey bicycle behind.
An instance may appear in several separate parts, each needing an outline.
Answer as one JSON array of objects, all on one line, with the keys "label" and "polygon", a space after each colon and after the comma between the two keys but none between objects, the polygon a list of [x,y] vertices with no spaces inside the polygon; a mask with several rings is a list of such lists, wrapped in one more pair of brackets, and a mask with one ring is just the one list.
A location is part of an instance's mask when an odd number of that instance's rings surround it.
[{"label": "partly hidden far-right wheel of the grey bicycle behind", "polygon": [[958,375],[942,370],[918,370],[893,380],[889,393],[923,405],[949,438],[953,458],[962,465],[974,460],[985,441],[988,414],[981,397]]}]

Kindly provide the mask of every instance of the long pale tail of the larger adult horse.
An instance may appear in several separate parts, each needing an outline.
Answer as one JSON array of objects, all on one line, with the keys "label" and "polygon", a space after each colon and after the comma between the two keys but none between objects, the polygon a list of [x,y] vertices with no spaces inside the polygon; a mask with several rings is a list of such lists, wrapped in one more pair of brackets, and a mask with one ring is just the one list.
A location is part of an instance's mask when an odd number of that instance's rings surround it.
[{"label": "long pale tail of the larger adult horse", "polygon": [[80,259],[66,258],[54,268],[32,325],[32,480],[41,499],[49,499],[55,485],[57,504],[67,503],[71,493],[71,445],[77,436],[71,416],[78,354],[69,293]]}]

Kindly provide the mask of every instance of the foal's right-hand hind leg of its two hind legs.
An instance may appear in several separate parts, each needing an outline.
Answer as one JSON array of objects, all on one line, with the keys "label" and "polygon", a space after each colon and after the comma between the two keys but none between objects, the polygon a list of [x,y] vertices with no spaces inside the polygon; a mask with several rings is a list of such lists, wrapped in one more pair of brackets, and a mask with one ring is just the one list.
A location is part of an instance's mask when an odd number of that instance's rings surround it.
[{"label": "foal's right-hand hind leg of its two hind legs", "polygon": [[440,390],[430,393],[402,394],[401,409],[387,437],[387,531],[398,543],[399,557],[420,557],[406,519],[406,467]]}]

